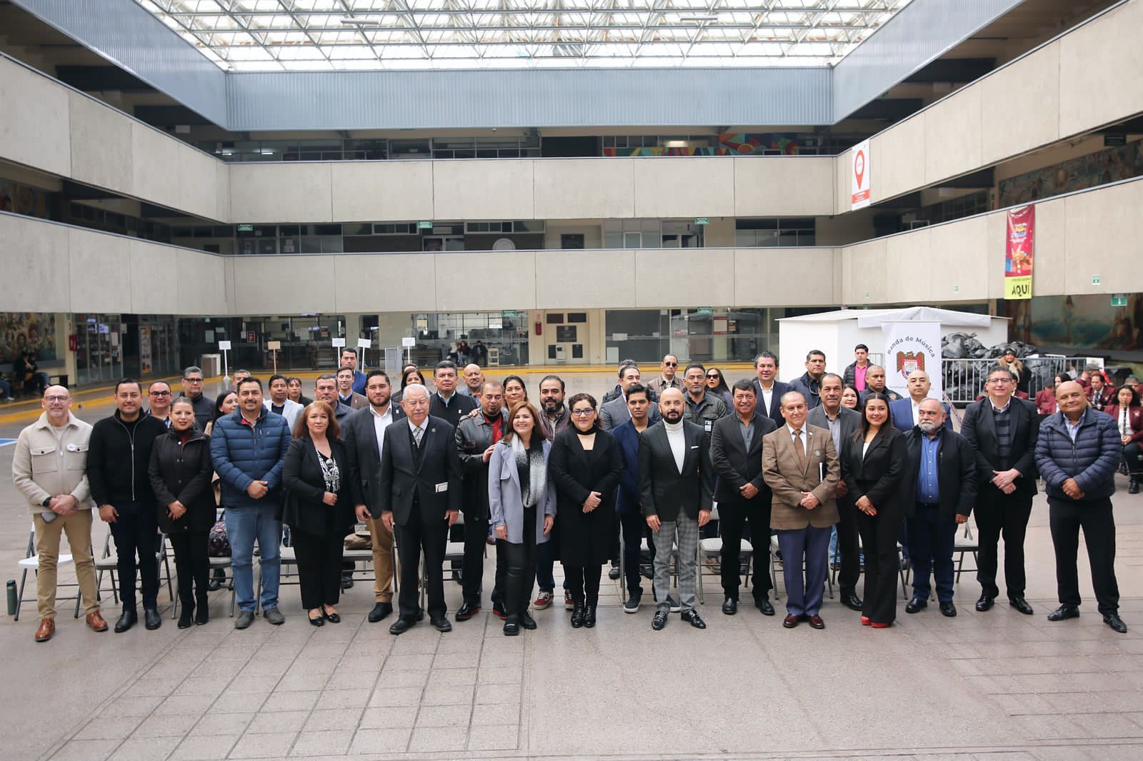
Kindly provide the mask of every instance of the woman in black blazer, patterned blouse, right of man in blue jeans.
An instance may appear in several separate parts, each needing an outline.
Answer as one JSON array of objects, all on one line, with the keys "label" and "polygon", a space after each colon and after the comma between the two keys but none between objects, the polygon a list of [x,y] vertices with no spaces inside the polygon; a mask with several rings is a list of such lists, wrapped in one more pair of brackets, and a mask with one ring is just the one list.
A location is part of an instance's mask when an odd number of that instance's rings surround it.
[{"label": "woman in black blazer, patterned blouse, right of man in blue jeans", "polygon": [[314,626],[342,620],[335,607],[342,593],[342,547],[354,518],[339,439],[333,408],[311,402],[294,426],[282,464],[282,521],[291,530],[302,606]]}]

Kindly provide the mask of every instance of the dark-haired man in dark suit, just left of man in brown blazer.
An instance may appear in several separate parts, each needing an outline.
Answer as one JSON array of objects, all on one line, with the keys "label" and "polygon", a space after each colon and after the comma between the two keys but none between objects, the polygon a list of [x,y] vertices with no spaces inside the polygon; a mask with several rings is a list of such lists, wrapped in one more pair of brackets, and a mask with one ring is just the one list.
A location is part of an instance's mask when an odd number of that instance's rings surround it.
[{"label": "dark-haired man in dark suit, just left of man in brown blazer", "polygon": [[[742,529],[750,521],[756,553],[769,552],[770,488],[762,480],[762,436],[777,428],[774,420],[758,411],[752,380],[734,384],[734,415],[714,420],[711,431],[711,464],[718,474],[714,499],[718,502],[719,531],[722,536],[722,612],[738,611],[738,552]],[[770,577],[754,562],[754,607],[774,615],[769,600]]]}]

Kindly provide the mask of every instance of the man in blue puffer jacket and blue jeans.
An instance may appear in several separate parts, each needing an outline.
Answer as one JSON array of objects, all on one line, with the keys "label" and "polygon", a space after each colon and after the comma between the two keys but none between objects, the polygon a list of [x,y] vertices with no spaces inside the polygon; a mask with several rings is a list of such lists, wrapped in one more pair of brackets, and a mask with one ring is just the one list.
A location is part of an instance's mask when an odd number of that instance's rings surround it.
[{"label": "man in blue puffer jacket and blue jeans", "polygon": [[238,384],[238,409],[219,417],[210,435],[210,458],[226,505],[238,618],[234,628],[254,623],[254,540],[262,558],[262,615],[271,624],[285,622],[278,610],[279,554],[282,524],[281,471],[289,448],[286,418],[262,404],[262,382]]}]

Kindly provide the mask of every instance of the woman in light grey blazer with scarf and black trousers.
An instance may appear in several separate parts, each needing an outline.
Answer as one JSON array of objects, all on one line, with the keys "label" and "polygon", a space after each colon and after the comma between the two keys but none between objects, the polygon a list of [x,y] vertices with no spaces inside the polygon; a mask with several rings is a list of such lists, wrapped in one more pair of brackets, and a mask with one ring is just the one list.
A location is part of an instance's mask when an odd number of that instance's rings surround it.
[{"label": "woman in light grey blazer with scarf and black trousers", "polygon": [[507,559],[505,636],[519,634],[520,626],[536,628],[528,615],[536,545],[547,542],[555,520],[555,484],[547,478],[552,444],[538,420],[539,412],[530,402],[517,402],[509,412],[511,430],[488,460],[488,507],[496,540]]}]

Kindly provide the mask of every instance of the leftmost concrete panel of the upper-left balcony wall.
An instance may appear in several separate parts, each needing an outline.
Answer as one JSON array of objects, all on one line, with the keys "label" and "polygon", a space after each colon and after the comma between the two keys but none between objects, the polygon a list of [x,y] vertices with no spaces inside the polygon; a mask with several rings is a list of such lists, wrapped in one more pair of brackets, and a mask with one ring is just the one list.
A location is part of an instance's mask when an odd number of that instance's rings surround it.
[{"label": "leftmost concrete panel of the upper-left balcony wall", "polygon": [[[0,57],[0,157],[67,177],[71,135],[67,91]],[[15,107],[15,104],[19,104]]]}]

